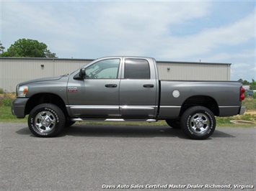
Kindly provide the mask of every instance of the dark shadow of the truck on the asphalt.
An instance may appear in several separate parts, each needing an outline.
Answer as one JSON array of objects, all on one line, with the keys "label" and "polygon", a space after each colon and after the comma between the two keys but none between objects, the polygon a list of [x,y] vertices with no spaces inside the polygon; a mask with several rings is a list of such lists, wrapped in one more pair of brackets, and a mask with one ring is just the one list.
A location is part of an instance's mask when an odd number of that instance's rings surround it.
[{"label": "dark shadow of the truck on the asphalt", "polygon": [[[16,131],[20,135],[30,135],[28,127]],[[188,139],[181,129],[172,129],[169,126],[106,126],[106,125],[74,125],[66,127],[58,137],[63,136],[90,136],[90,137],[178,137]],[[208,138],[234,138],[231,134],[226,134],[221,129],[215,130],[213,135]]]}]

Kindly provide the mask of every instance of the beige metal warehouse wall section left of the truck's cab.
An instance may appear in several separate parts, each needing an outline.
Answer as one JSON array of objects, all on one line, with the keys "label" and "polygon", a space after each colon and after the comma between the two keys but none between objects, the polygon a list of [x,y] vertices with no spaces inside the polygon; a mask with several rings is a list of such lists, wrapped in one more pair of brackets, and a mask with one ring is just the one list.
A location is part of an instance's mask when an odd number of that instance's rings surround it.
[{"label": "beige metal warehouse wall section left of the truck's cab", "polygon": [[92,60],[0,58],[0,88],[14,92],[18,83],[71,73]]}]

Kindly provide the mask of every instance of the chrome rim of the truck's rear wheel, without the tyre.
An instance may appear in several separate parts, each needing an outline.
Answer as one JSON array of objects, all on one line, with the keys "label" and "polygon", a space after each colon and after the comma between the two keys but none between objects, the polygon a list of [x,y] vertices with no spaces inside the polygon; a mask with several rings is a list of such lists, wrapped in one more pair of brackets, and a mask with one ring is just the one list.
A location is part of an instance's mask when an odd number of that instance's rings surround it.
[{"label": "chrome rim of the truck's rear wheel, without the tyre", "polygon": [[190,118],[190,129],[195,132],[195,134],[203,134],[210,127],[210,120],[208,116],[203,113],[195,113]]}]

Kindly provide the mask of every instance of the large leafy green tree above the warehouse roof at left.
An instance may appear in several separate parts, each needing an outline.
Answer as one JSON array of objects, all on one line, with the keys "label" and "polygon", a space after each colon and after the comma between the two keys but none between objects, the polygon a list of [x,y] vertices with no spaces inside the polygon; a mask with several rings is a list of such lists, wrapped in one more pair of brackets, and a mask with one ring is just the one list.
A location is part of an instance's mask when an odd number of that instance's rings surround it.
[{"label": "large leafy green tree above the warehouse roof at left", "polygon": [[35,39],[18,39],[9,47],[6,52],[2,52],[1,57],[56,57],[56,53],[50,52],[47,45]]}]

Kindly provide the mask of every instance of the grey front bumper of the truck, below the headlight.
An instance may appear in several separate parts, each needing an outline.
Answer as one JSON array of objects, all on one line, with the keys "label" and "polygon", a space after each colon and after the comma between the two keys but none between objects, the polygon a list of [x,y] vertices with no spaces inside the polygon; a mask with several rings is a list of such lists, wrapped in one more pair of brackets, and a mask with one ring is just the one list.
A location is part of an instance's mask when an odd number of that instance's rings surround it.
[{"label": "grey front bumper of the truck, below the headlight", "polygon": [[12,102],[12,115],[25,118],[25,107],[29,98],[16,98]]}]

